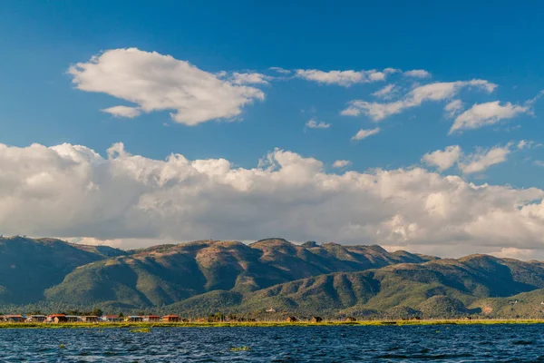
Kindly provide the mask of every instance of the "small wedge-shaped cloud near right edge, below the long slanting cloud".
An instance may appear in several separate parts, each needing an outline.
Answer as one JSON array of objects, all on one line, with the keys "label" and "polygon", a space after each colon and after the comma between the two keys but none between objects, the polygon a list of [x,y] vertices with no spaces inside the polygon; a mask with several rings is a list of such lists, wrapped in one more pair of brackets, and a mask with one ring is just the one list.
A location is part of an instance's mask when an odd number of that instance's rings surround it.
[{"label": "small wedge-shaped cloud near right edge, below the long slanting cloud", "polygon": [[483,126],[499,123],[500,120],[514,118],[520,113],[530,113],[529,106],[512,103],[501,105],[500,101],[476,103],[469,110],[455,118],[450,133],[479,129]]}]

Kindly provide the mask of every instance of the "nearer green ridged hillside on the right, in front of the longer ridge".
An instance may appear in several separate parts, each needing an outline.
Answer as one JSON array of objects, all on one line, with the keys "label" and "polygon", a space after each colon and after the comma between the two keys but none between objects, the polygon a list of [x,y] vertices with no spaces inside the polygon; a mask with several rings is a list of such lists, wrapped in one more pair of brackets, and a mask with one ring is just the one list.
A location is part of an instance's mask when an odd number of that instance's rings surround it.
[{"label": "nearer green ridged hillside on the right, in front of the longer ridge", "polygon": [[[338,311],[345,315],[367,315],[374,311],[385,316],[411,312],[427,318],[445,318],[481,313],[477,301],[482,299],[542,289],[543,269],[541,262],[474,255],[460,260],[432,260],[320,275],[243,296],[229,296],[229,299],[223,296],[222,302],[205,294],[170,308],[194,314],[207,312],[205,307],[238,313],[274,308],[306,315]],[[540,297],[544,301],[544,296]],[[503,299],[488,300],[497,307],[503,302]]]}]

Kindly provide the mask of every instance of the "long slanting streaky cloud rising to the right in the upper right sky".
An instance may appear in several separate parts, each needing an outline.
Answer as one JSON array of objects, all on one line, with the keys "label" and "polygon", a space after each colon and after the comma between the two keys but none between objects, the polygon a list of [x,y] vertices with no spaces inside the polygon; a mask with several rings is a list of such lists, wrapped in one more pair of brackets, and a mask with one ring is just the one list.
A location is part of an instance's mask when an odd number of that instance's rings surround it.
[{"label": "long slanting streaky cloud rising to the right in the upper right sky", "polygon": [[392,103],[375,103],[354,100],[342,111],[345,116],[358,116],[361,113],[371,117],[374,121],[402,113],[405,109],[420,106],[426,101],[443,101],[452,98],[462,88],[479,88],[491,93],[497,85],[485,80],[456,81],[448,83],[429,83],[414,88],[403,99]]}]

